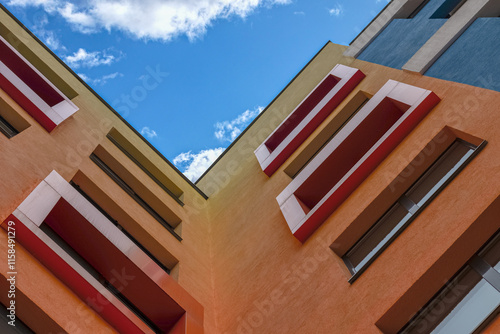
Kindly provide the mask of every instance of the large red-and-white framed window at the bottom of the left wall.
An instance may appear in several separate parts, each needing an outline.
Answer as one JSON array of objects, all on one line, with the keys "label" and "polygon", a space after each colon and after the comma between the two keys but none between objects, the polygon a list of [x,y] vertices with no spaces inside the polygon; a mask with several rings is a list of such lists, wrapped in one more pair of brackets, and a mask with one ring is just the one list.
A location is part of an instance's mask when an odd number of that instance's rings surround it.
[{"label": "large red-and-white framed window at the bottom of the left wall", "polygon": [[203,326],[203,307],[55,171],[8,219],[17,242],[117,332]]}]

